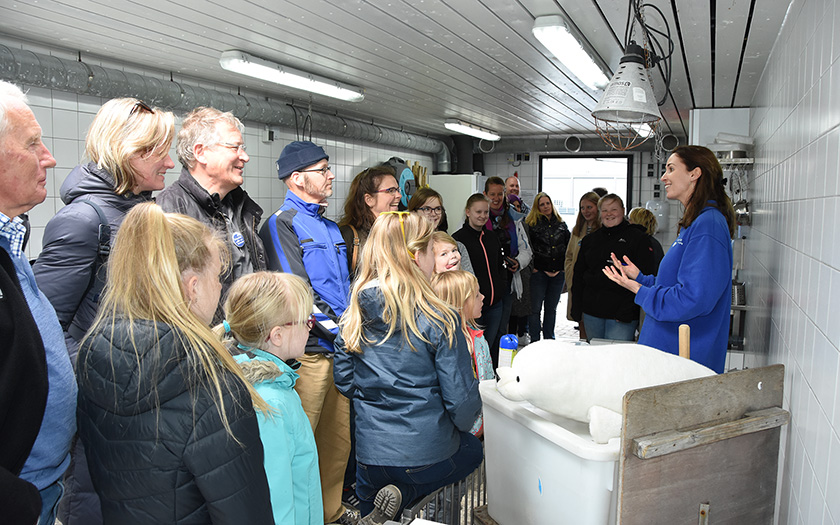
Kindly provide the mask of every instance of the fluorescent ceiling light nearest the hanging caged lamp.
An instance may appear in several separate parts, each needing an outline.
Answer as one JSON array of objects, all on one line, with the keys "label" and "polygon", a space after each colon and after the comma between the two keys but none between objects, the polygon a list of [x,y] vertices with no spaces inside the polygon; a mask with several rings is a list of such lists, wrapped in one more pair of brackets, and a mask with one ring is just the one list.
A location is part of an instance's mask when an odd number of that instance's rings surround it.
[{"label": "fluorescent ceiling light nearest the hanging caged lamp", "polygon": [[574,25],[560,15],[538,16],[532,29],[534,36],[552,55],[590,89],[603,89],[609,82],[603,60]]}]

